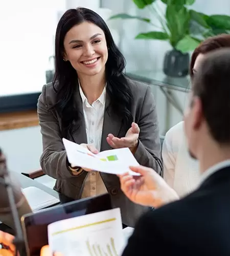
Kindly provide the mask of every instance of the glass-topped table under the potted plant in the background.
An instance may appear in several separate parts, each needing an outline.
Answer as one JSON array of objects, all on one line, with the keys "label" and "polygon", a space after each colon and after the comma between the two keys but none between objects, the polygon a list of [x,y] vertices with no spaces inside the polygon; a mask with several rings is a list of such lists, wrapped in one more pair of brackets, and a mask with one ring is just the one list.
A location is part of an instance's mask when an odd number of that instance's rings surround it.
[{"label": "glass-topped table under the potted plant in the background", "polygon": [[150,86],[158,86],[160,91],[165,95],[166,101],[166,129],[165,133],[170,129],[170,103],[180,114],[183,114],[183,108],[180,106],[173,91],[188,93],[190,91],[190,78],[186,77],[170,77],[163,71],[139,70],[126,73],[131,79],[147,83]]}]

